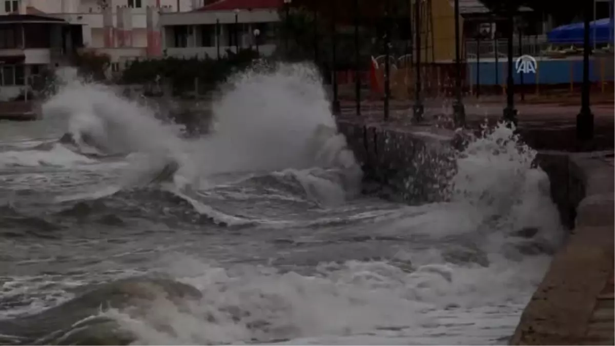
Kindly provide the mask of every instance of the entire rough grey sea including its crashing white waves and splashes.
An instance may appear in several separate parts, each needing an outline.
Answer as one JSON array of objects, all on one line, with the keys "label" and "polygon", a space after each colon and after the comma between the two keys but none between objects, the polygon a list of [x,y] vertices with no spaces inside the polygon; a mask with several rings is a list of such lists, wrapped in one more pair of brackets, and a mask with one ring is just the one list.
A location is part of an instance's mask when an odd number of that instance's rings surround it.
[{"label": "entire rough grey sea including its crashing white waves and splashes", "polygon": [[561,236],[509,129],[404,206],[358,193],[309,68],[233,86],[197,139],[77,81],[0,123],[1,345],[506,344]]}]

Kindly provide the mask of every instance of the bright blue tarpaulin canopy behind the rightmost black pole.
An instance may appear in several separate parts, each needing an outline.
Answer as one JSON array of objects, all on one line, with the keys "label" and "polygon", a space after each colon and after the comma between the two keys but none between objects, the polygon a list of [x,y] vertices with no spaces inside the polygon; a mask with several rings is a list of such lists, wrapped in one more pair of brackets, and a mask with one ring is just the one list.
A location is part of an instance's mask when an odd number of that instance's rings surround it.
[{"label": "bright blue tarpaulin canopy behind the rightmost black pole", "polygon": [[[584,31],[583,23],[558,26],[547,33],[547,41],[549,43],[582,44]],[[608,43],[610,41],[611,20],[603,18],[589,23],[589,40],[592,43],[594,31],[597,43]]]}]

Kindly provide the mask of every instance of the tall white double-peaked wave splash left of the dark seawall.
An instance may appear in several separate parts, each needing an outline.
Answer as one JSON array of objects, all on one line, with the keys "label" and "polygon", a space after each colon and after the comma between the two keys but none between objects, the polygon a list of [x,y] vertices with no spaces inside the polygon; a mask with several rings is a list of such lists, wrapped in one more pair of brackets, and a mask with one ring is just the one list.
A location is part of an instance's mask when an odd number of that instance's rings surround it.
[{"label": "tall white double-peaked wave splash left of the dark seawall", "polygon": [[173,182],[170,191],[203,190],[239,174],[274,171],[292,175],[323,206],[360,191],[360,167],[310,66],[238,74],[212,109],[213,131],[183,139],[153,110],[79,79],[66,81],[43,107],[46,118],[66,119],[66,147],[89,158],[127,157],[117,191],[151,182]]}]

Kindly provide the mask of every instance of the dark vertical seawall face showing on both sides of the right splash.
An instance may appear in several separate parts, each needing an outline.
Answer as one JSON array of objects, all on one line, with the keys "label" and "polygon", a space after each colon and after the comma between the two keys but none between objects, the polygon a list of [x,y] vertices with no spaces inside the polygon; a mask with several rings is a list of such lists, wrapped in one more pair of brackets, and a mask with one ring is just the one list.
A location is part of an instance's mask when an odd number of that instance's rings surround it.
[{"label": "dark vertical seawall face showing on both sides of the right splash", "polygon": [[[444,197],[455,172],[454,151],[462,145],[458,133],[429,126],[408,129],[343,119],[338,120],[338,129],[362,164],[366,193],[409,204]],[[569,174],[568,154],[539,151],[536,161],[549,175],[561,222],[572,228],[581,197],[579,183]]]}]

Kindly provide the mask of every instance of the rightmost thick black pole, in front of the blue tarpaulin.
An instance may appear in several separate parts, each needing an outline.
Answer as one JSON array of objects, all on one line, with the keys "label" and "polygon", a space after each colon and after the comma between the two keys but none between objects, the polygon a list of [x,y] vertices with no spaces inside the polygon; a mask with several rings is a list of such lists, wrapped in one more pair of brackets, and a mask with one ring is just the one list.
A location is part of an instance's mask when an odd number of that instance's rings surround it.
[{"label": "rightmost thick black pole, in front of the blue tarpaulin", "polygon": [[581,87],[581,111],[577,115],[576,134],[580,141],[593,139],[593,113],[589,105],[589,22],[592,14],[592,1],[585,1],[583,20],[583,85]]}]

